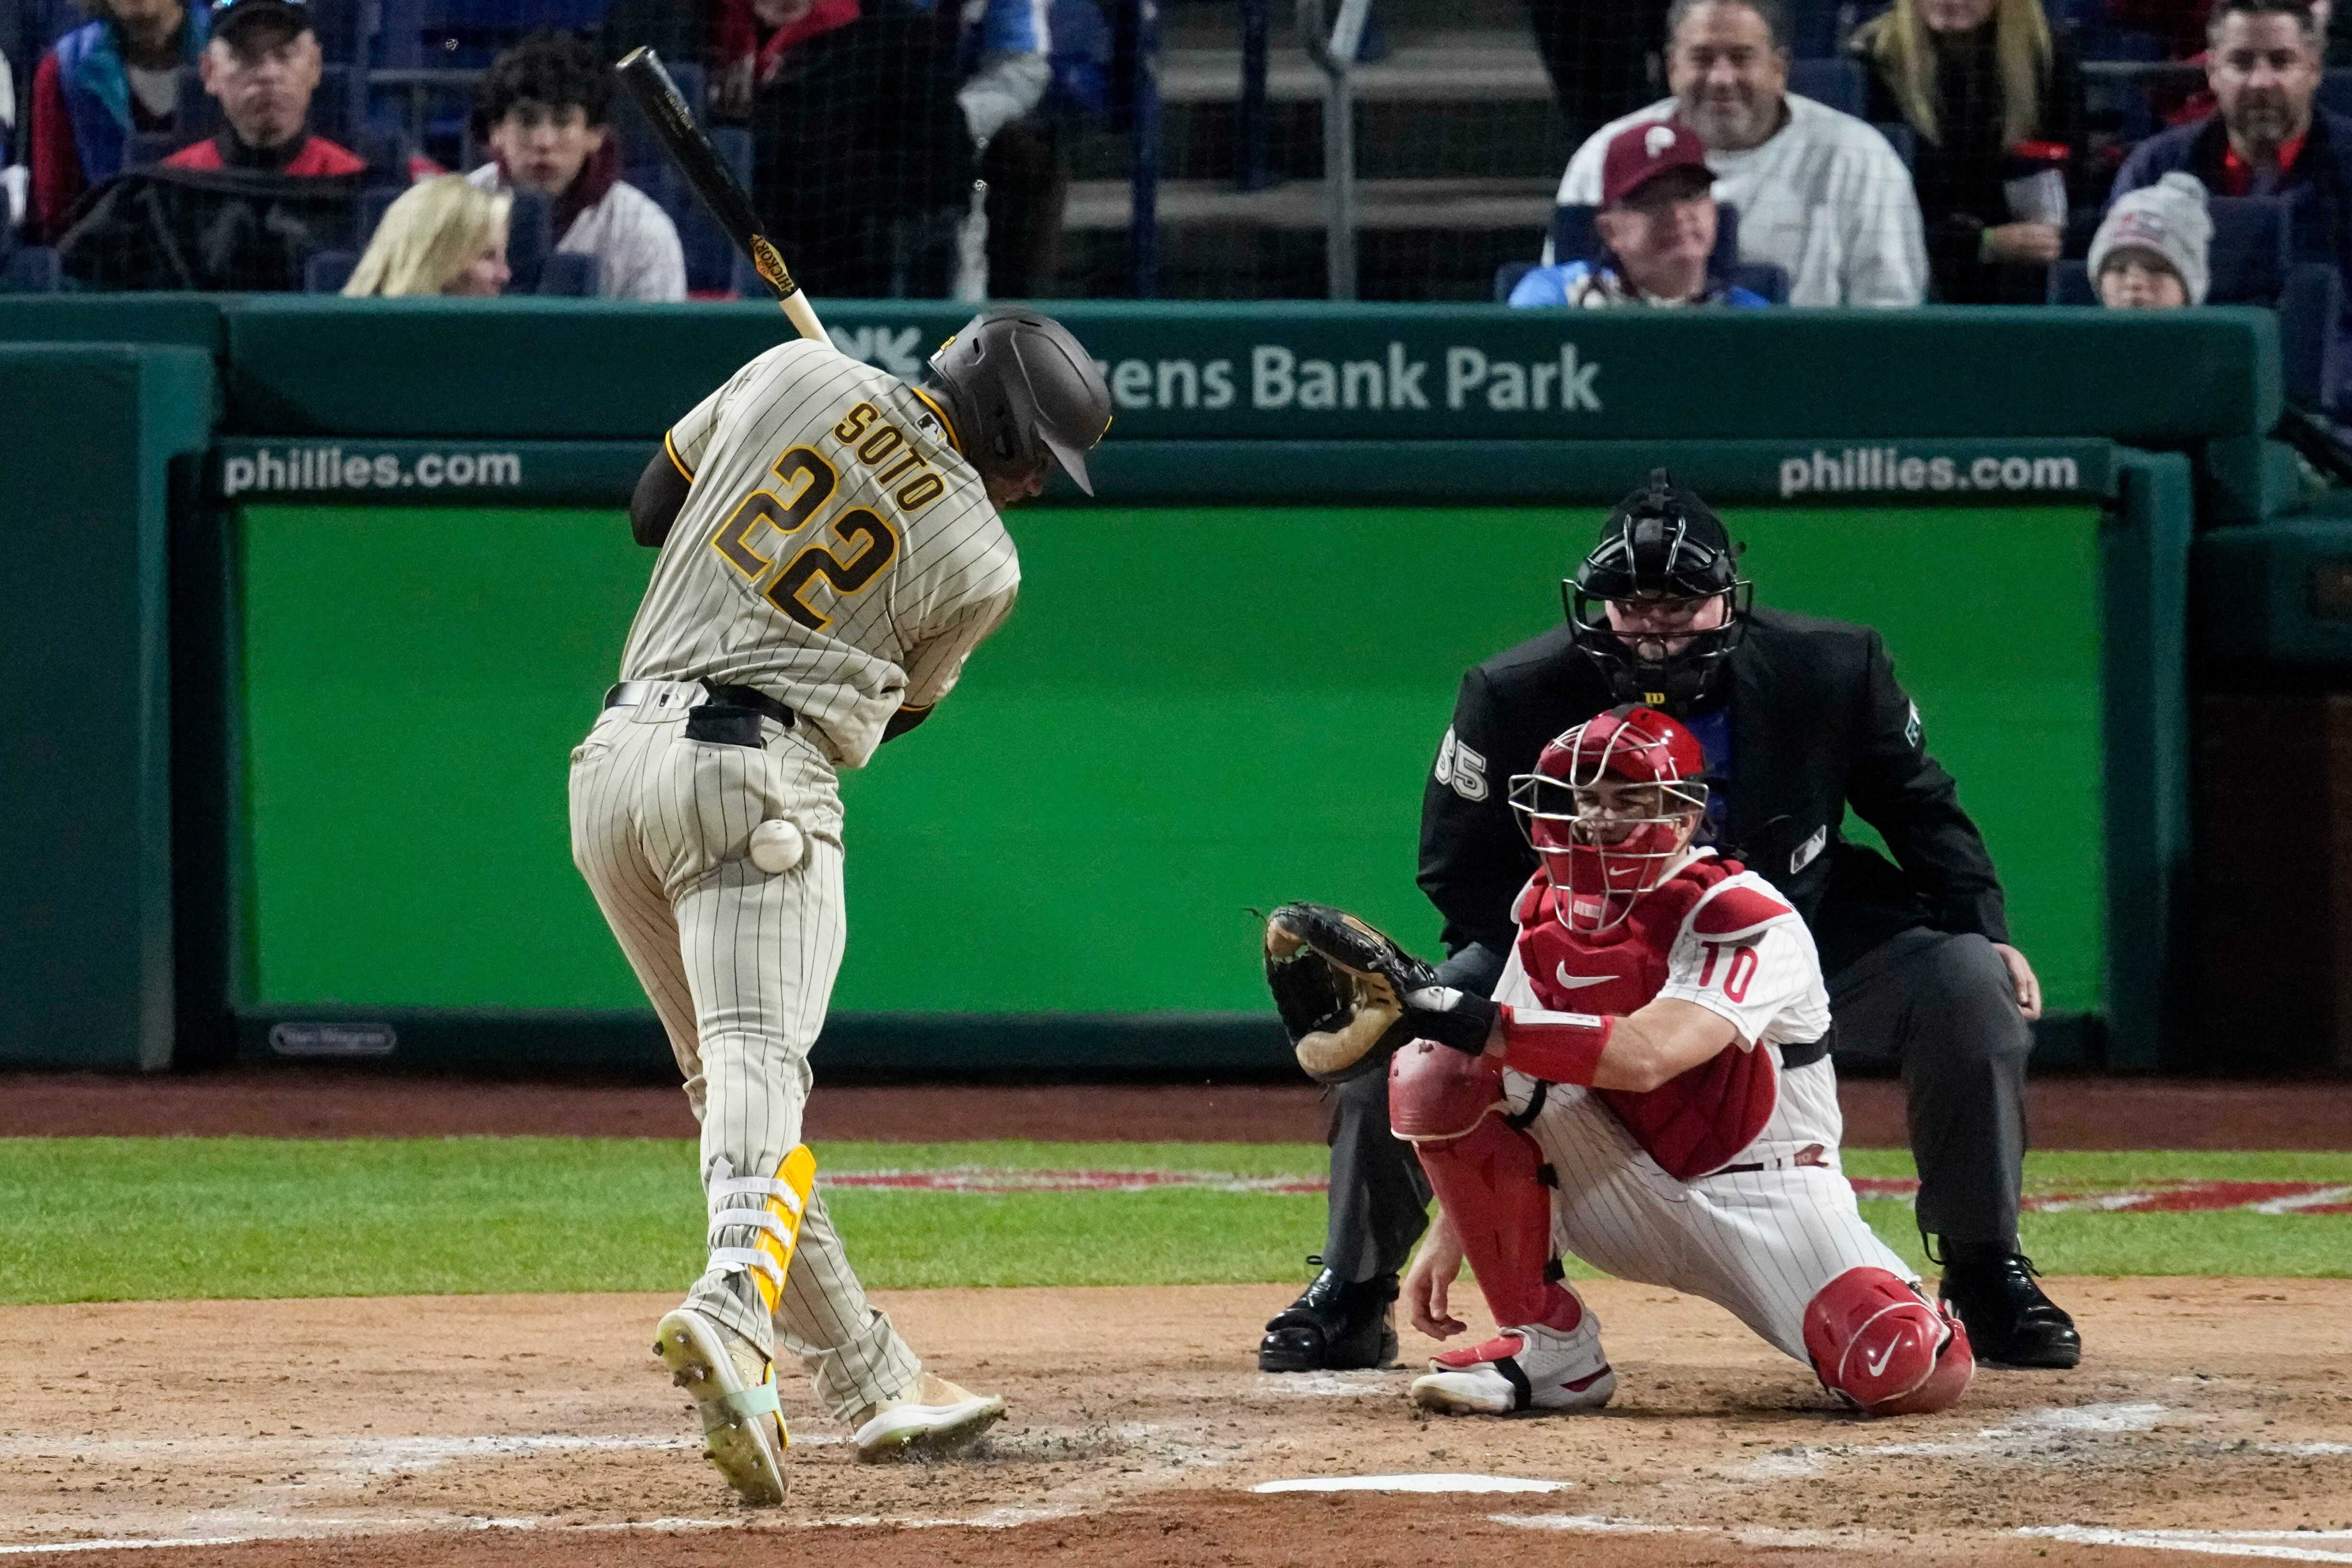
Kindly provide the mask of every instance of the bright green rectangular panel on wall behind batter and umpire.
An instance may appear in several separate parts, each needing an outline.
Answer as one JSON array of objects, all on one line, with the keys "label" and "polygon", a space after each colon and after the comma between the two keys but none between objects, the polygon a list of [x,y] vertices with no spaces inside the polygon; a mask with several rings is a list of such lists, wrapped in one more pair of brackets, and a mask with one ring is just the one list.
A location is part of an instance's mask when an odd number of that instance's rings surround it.
[{"label": "bright green rectangular panel on wall behind batter and umpire", "polygon": [[[1011,623],[920,736],[844,778],[837,1004],[1247,1013],[1263,999],[1249,910],[1284,898],[1432,947],[1416,825],[1454,686],[1557,623],[1562,567],[1595,522],[1016,515]],[[1766,602],[1886,632],[2051,1006],[2098,1013],[2100,512],[1729,522]],[[567,752],[652,559],[626,517],[254,505],[238,534],[252,1001],[635,1006],[564,818]],[[367,590],[322,595],[334,581]]]}]

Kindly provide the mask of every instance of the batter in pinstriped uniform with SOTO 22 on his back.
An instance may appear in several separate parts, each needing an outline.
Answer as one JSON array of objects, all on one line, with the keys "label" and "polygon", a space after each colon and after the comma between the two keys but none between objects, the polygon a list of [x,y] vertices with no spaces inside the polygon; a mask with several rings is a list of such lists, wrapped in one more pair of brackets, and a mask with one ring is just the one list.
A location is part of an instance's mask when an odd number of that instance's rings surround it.
[{"label": "batter in pinstriped uniform with SOTO 22 on his back", "polygon": [[1108,425],[1094,360],[1035,313],[983,313],[922,388],[795,341],[680,418],[630,501],[661,557],[572,752],[572,858],[703,1128],[710,1267],[654,1352],[750,1502],[786,1490],[776,1345],[861,1458],[1004,1415],[866,1300],[800,1126],[844,940],[837,776],[948,696],[1021,583],[1000,508],[1049,461],[1091,494]]}]

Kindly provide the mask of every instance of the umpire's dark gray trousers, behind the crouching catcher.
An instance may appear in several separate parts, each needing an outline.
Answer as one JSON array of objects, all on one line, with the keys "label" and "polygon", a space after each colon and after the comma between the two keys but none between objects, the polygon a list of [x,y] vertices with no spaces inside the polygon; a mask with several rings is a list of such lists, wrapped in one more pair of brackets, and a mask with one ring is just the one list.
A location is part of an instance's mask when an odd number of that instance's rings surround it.
[{"label": "umpire's dark gray trousers, behind the crouching catcher", "polygon": [[[1830,1016],[1839,1060],[1893,1060],[1903,1072],[1919,1229],[2016,1251],[2034,1037],[2002,954],[1980,936],[1915,926],[1830,976]],[[1414,1145],[1388,1131],[1388,1074],[1341,1084],[1329,1098],[1324,1267],[1345,1281],[1395,1274],[1428,1227],[1430,1185]]]}]

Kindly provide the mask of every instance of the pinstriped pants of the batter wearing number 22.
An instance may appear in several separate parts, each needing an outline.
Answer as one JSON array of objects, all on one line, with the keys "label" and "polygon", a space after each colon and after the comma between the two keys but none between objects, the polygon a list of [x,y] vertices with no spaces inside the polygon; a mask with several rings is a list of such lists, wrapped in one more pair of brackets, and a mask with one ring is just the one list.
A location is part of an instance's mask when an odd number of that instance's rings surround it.
[{"label": "pinstriped pants of the batter wearing number 22", "polygon": [[[703,1185],[774,1175],[800,1143],[809,1046],[842,966],[842,802],[833,764],[762,719],[760,750],[689,741],[696,682],[649,682],[572,752],[572,860],[670,1034],[703,1128]],[[771,877],[750,830],[790,816],[807,858]],[[727,1227],[715,1246],[753,1246]],[[922,1363],[866,1300],[821,1197],[809,1197],[774,1324],[750,1274],[703,1274],[687,1305],[762,1352],[793,1352],[840,1420],[898,1399]]]}]

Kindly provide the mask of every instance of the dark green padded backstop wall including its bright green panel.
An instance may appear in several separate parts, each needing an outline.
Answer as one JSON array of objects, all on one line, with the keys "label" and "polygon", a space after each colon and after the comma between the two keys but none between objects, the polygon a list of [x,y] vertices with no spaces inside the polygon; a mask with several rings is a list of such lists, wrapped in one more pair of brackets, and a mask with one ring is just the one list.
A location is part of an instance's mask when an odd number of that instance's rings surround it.
[{"label": "dark green padded backstop wall including its bright green panel", "polygon": [[[828,320],[913,374],[960,315]],[[2044,973],[2044,1048],[2176,1060],[2192,458],[2239,454],[2206,470],[2223,496],[2267,473],[2244,461],[2279,411],[2265,313],[1068,320],[1120,404],[1101,498],[1011,520],[1016,616],[844,780],[823,1070],[1279,1070],[1251,910],[1324,898],[1435,938],[1416,818],[1461,670],[1557,623],[1562,571],[1656,463],[1724,505],[1766,602],[1886,632]],[[127,1034],[38,1051],[7,1001],[0,1063],[659,1063],[569,865],[567,752],[652,564],[628,484],[774,310],[0,301],[31,360],[108,329],[134,339],[108,353],[179,355],[183,407],[89,416],[85,444],[209,430],[200,482],[193,458],[176,489],[134,470],[167,592],[12,609],[33,644],[120,649],[169,705],[143,907],[165,875],[174,985]],[[94,465],[42,473],[0,473],[0,522],[96,494]],[[80,745],[96,783],[129,766],[71,712],[9,724],[19,752]],[[9,839],[9,929],[129,785]],[[42,978],[45,1018],[71,1016],[80,938],[0,952],[0,997]]]}]

